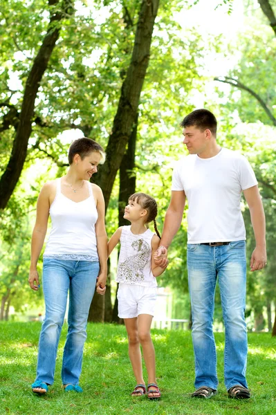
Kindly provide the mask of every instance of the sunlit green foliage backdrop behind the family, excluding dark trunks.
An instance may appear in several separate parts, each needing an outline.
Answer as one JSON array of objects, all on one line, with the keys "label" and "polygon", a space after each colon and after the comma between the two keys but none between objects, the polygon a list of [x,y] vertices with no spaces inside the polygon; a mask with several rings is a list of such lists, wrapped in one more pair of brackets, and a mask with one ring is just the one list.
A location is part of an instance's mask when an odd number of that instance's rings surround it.
[{"label": "sunlit green foliage backdrop behind the family, excluding dark trunks", "polygon": [[[160,1],[140,95],[135,167],[131,174],[136,176],[137,190],[145,190],[157,199],[158,228],[162,230],[174,161],[185,155],[178,124],[196,107],[207,107],[216,114],[219,144],[245,154],[259,180],[268,223],[268,266],[260,273],[248,273],[246,313],[249,329],[271,330],[276,298],[276,38],[259,3],[244,0],[241,5],[238,1],[218,0],[206,6],[202,0]],[[275,10],[275,3],[270,3]],[[46,0],[0,0],[0,6],[0,168],[4,172],[26,79],[53,7],[49,8]],[[66,151],[73,138],[85,135],[107,145],[134,47],[140,1],[79,0],[73,6],[75,11],[62,21],[59,39],[39,86],[24,169],[1,212],[1,319],[8,319],[13,308],[15,313],[27,315],[42,311],[42,293],[30,292],[27,284],[35,201],[45,181],[66,172]],[[210,21],[203,24],[207,12]],[[211,20],[211,13],[213,19],[217,13],[217,21]],[[223,28],[219,21],[222,15]],[[228,28],[231,19],[238,22],[239,30]],[[252,93],[239,88],[237,81],[255,92],[264,105]],[[109,236],[118,226],[118,192],[119,177],[107,210]],[[243,207],[249,261],[254,237],[244,203]],[[174,293],[172,317],[176,318],[190,315],[186,230],[184,217],[170,250],[169,267],[159,279],[161,286],[169,286]],[[116,261],[111,263],[111,275],[115,267]],[[114,284],[111,287],[114,291]],[[113,298],[114,295],[115,292]],[[219,293],[216,298],[219,304]],[[221,327],[219,307],[215,320]]]}]

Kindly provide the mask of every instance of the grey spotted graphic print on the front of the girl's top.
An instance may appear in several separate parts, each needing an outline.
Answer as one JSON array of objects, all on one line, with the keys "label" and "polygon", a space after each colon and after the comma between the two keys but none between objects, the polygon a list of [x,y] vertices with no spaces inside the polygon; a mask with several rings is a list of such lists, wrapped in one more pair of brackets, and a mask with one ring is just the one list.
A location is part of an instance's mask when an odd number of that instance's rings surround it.
[{"label": "grey spotted graphic print on the front of the girl's top", "polygon": [[138,239],[131,243],[132,248],[138,253],[128,257],[118,266],[118,278],[124,279],[126,282],[144,281],[144,267],[151,256],[151,248],[146,241]]}]

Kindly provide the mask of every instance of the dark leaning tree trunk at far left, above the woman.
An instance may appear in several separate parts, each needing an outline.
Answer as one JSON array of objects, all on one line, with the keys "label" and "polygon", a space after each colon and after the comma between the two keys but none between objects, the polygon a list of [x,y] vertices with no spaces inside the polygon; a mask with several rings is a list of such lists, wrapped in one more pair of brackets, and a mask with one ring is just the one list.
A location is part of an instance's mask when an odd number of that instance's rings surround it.
[{"label": "dark leaning tree trunk at far left, above the woman", "polygon": [[59,0],[48,0],[48,4],[50,6],[50,22],[47,33],[42,42],[42,46],[39,48],[39,52],[33,62],[33,67],[30,70],[28,79],[26,80],[19,116],[19,124],[15,133],[12,154],[10,156],[10,160],[8,161],[6,170],[0,179],[0,209],[6,208],[24,167],[28,140],[32,132],[33,113],[35,109],[37,91],[39,89],[40,82],[42,81],[44,72],[48,66],[50,55],[52,54],[59,37],[59,22],[62,21],[62,19],[64,19],[69,12],[73,11],[71,3],[72,2],[70,0],[64,0],[61,3],[60,10],[54,10],[53,6],[57,6],[59,4]]}]

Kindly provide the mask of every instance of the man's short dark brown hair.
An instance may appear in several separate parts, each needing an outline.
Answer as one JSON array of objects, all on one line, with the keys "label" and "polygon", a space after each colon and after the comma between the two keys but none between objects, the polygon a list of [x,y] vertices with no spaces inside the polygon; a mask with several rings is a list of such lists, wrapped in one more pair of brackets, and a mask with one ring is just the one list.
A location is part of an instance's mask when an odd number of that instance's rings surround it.
[{"label": "man's short dark brown hair", "polygon": [[185,116],[180,124],[181,127],[196,127],[201,131],[210,129],[215,136],[217,134],[217,119],[208,109],[195,109]]}]

